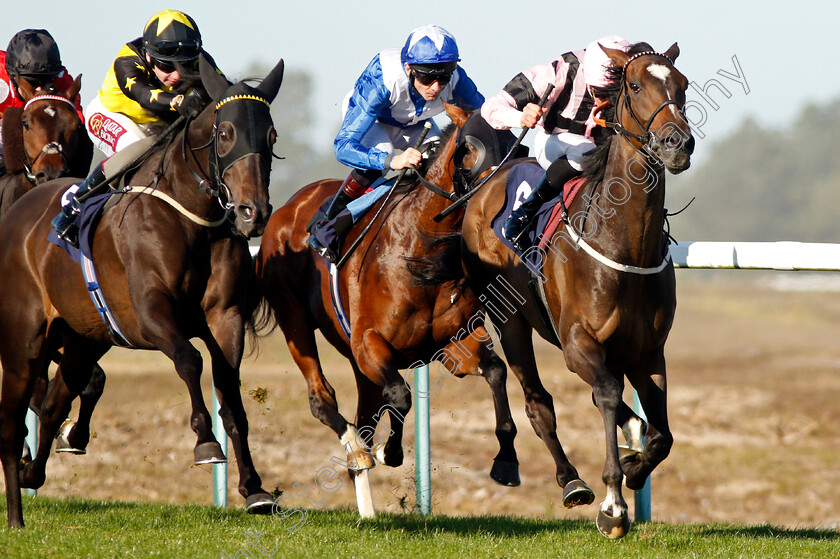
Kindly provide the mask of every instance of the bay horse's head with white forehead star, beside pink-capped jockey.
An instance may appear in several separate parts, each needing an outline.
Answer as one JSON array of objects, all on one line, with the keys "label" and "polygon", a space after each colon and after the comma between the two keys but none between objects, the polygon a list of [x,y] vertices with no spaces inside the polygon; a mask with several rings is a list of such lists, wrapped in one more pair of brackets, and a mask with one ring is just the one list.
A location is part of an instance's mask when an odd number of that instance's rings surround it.
[{"label": "bay horse's head with white forehead star, beside pink-capped jockey", "polygon": [[694,137],[684,114],[688,80],[674,67],[680,48],[674,43],[661,54],[601,48],[622,69],[616,119],[631,141],[644,144],[673,174],[688,169]]}]

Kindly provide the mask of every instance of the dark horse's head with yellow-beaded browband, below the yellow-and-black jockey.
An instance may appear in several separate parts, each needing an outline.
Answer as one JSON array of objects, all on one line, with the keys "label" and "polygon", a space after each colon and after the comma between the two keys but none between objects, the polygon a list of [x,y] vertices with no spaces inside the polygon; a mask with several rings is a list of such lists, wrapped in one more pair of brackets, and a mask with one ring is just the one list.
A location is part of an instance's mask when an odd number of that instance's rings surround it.
[{"label": "dark horse's head with yellow-beaded browband, below the yellow-and-black jockey", "polygon": [[215,100],[210,143],[213,188],[233,210],[239,234],[262,235],[271,216],[268,185],[277,141],[269,109],[283,81],[283,60],[257,87],[244,82],[231,85],[204,57],[201,66],[202,81]]}]

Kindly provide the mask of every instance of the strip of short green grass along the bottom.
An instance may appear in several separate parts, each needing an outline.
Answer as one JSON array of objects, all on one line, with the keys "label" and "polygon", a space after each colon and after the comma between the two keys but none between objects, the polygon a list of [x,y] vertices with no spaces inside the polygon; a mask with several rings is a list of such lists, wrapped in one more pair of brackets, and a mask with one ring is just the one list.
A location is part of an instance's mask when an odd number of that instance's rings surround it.
[{"label": "strip of short green grass along the bottom", "polygon": [[[5,505],[0,510],[5,516]],[[306,510],[305,518],[301,511],[257,517],[203,506],[24,497],[27,528],[0,529],[0,557],[840,556],[840,533],[829,530],[653,522],[634,525],[626,538],[610,541],[598,534],[594,521],[412,514],[360,521],[352,511]],[[263,532],[256,544],[249,539],[255,531]]]}]

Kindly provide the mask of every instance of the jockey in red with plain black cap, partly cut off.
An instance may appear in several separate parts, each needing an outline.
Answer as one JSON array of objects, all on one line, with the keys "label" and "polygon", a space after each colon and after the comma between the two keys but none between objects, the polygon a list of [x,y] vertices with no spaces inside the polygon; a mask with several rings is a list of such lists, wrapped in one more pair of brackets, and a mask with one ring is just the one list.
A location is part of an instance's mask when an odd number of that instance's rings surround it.
[{"label": "jockey in red with plain black cap, partly cut off", "polygon": [[[46,29],[19,31],[9,41],[6,50],[0,50],[0,127],[6,109],[25,105],[18,91],[18,80],[21,78],[38,92],[50,89],[64,92],[73,85],[73,78],[61,64],[58,45]],[[79,118],[84,121],[81,98],[77,95],[73,102]],[[0,134],[0,150],[2,147]]]}]

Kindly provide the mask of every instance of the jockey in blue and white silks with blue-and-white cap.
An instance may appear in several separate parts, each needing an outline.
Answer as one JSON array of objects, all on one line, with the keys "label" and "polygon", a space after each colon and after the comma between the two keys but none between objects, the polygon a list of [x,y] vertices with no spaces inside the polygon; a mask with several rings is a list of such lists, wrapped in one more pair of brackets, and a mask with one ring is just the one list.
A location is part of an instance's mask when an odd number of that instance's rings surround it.
[{"label": "jockey in blue and white silks with blue-and-white cap", "polygon": [[[419,164],[421,154],[412,146],[426,121],[443,112],[444,101],[467,109],[481,106],[484,97],[459,60],[455,37],[437,25],[418,27],[401,50],[386,49],[373,57],[344,99],[344,120],[334,143],[336,159],[353,170],[317,225],[335,218],[387,171]],[[439,136],[435,125],[426,141]],[[395,155],[395,149],[405,151]],[[351,225],[349,220],[336,223],[339,242]],[[333,248],[311,234],[309,246],[336,261]]]}]

